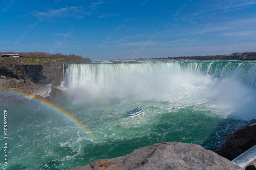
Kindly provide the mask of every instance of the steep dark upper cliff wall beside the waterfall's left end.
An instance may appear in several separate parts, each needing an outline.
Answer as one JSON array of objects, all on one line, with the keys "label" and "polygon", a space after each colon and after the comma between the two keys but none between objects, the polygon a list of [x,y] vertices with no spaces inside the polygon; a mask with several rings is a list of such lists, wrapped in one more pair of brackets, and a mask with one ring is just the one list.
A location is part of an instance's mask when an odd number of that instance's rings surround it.
[{"label": "steep dark upper cliff wall beside the waterfall's left end", "polygon": [[[64,68],[63,68],[64,67]],[[67,64],[27,64],[10,67],[0,66],[0,75],[15,79],[30,79],[34,83],[45,84],[54,81],[59,85],[63,77],[63,69]]]}]

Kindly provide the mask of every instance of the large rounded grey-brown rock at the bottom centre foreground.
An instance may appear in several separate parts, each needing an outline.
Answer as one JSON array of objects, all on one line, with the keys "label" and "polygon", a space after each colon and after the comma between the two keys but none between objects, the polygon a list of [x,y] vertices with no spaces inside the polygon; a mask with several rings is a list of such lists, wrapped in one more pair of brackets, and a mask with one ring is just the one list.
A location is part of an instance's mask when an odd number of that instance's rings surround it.
[{"label": "large rounded grey-brown rock at the bottom centre foreground", "polygon": [[218,154],[199,145],[181,142],[164,142],[135,149],[132,153],[112,159],[101,159],[85,169],[242,169]]}]

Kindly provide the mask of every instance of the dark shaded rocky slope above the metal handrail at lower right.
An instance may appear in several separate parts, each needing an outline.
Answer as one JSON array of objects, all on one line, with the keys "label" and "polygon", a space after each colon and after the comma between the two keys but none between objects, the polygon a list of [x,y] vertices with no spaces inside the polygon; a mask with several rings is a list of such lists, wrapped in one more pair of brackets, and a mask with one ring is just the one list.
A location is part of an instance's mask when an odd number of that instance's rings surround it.
[{"label": "dark shaded rocky slope above the metal handrail at lower right", "polygon": [[228,160],[235,159],[256,145],[256,125],[253,125],[254,123],[256,123],[255,119],[251,120],[251,123],[247,126],[236,130],[232,134],[223,134],[227,137],[227,141],[221,147],[213,148],[212,151]]}]

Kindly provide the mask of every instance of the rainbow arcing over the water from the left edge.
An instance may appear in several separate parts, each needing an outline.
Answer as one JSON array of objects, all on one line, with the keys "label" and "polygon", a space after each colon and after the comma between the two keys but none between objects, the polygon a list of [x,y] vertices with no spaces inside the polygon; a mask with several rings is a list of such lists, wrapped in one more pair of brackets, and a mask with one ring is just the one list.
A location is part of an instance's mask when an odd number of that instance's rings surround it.
[{"label": "rainbow arcing over the water from the left edge", "polygon": [[[23,97],[26,99],[29,99],[33,96],[33,94],[29,94],[27,92],[18,92],[18,91],[12,91],[12,90],[5,90],[5,89],[0,89],[1,91],[13,94],[17,97]],[[31,101],[34,101],[36,103],[40,103],[42,105],[44,105],[45,107],[47,107],[49,110],[54,111],[55,113],[61,115],[62,117],[68,119],[70,122],[72,122],[74,125],[78,126],[83,132],[85,132],[88,136],[90,136],[92,139],[95,139],[94,135],[90,132],[90,130],[81,123],[81,121],[79,121],[76,117],[74,117],[73,115],[71,115],[69,112],[61,109],[59,106],[57,106],[56,104],[49,102],[47,100],[45,100],[43,97],[35,97],[33,99],[31,99]]]}]

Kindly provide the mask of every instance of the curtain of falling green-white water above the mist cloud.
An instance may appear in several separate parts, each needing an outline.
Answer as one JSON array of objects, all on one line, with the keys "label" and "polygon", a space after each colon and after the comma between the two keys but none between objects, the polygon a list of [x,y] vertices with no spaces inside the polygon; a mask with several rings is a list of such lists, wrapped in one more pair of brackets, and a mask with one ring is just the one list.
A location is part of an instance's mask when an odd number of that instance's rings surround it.
[{"label": "curtain of falling green-white water above the mist cloud", "polygon": [[[213,78],[226,79],[234,77],[242,79],[247,85],[255,86],[255,62],[150,62],[150,63],[104,63],[104,64],[68,64],[66,73],[67,87],[86,86],[88,83],[102,86],[118,74],[119,78],[127,75],[140,75],[141,79],[165,71],[168,73],[187,72],[198,75],[209,74]],[[64,74],[63,74],[64,75]],[[180,76],[182,76],[180,74]],[[168,76],[167,76],[168,77]],[[171,77],[169,77],[171,79]],[[184,77],[185,78],[185,77]],[[131,79],[131,77],[127,77]],[[119,79],[120,80],[120,79]]]}]

